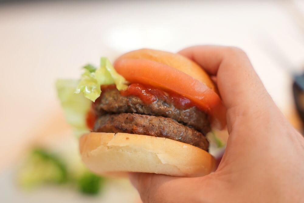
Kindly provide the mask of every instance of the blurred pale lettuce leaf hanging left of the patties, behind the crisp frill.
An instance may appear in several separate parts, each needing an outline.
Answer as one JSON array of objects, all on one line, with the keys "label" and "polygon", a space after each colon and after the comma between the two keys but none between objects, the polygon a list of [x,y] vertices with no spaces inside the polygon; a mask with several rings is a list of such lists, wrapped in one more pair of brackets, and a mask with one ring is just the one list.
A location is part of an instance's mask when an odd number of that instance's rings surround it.
[{"label": "blurred pale lettuce leaf hanging left of the patties, behind the crisp frill", "polygon": [[86,115],[92,104],[82,94],[74,93],[78,83],[79,81],[74,79],[58,79],[56,81],[57,94],[67,123],[73,127],[76,136],[89,132],[86,125]]}]

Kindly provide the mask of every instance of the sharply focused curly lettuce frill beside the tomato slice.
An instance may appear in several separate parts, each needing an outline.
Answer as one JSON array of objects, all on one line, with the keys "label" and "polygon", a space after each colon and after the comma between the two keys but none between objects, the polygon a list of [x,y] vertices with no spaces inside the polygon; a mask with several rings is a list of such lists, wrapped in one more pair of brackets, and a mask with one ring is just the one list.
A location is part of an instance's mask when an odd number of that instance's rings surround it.
[{"label": "sharply focused curly lettuce frill beside the tomato slice", "polygon": [[85,72],[81,75],[75,93],[83,93],[86,98],[93,102],[101,94],[101,85],[115,84],[118,90],[127,88],[127,81],[116,72],[108,58],[101,58],[99,68],[90,64],[84,68]]}]

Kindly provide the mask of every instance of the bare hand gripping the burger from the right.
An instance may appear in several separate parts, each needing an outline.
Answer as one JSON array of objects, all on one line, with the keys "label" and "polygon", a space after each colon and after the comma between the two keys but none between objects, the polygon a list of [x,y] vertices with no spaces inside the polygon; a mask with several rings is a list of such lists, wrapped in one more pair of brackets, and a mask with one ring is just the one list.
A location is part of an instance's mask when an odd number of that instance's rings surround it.
[{"label": "bare hand gripping the burger from the right", "polygon": [[275,105],[244,51],[195,46],[179,53],[216,77],[227,108],[227,148],[217,170],[204,177],[130,174],[142,201],[304,202],[304,139]]}]

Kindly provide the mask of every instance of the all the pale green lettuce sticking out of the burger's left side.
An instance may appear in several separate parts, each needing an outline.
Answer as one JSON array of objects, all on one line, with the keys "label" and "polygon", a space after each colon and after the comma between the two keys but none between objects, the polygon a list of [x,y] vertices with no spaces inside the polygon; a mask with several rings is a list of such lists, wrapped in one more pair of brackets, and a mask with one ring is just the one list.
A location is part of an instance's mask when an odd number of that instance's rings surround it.
[{"label": "all the pale green lettuce sticking out of the burger's left side", "polygon": [[108,58],[101,58],[99,68],[91,64],[83,68],[84,73],[80,80],[59,79],[56,81],[58,97],[67,123],[74,128],[76,136],[89,132],[86,116],[92,101],[94,102],[101,94],[101,85],[115,84],[118,90],[128,87],[127,81],[116,72]]}]

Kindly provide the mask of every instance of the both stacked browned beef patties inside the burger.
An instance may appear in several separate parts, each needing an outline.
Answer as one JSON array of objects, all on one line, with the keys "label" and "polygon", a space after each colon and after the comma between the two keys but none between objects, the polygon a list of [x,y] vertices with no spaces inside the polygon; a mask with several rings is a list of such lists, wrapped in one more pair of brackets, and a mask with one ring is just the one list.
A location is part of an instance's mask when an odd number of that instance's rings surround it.
[{"label": "both stacked browned beef patties inside the burger", "polygon": [[122,96],[117,89],[108,89],[95,101],[94,111],[98,116],[95,132],[170,138],[208,151],[204,136],[210,131],[208,116],[196,107],[179,109],[165,98],[147,104],[137,96]]}]

